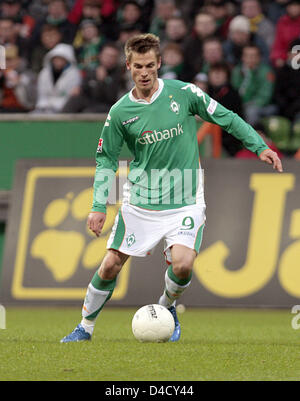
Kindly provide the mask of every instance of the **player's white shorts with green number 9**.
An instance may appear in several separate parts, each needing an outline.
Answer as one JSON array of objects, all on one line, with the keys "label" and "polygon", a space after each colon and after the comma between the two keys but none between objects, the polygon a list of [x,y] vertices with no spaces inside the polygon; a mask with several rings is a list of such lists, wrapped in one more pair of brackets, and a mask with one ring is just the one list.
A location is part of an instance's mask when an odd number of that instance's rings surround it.
[{"label": "player's white shorts with green number 9", "polygon": [[159,211],[126,204],[116,216],[107,249],[143,257],[164,239],[166,261],[171,263],[172,245],[184,245],[199,253],[204,225],[204,204]]}]

